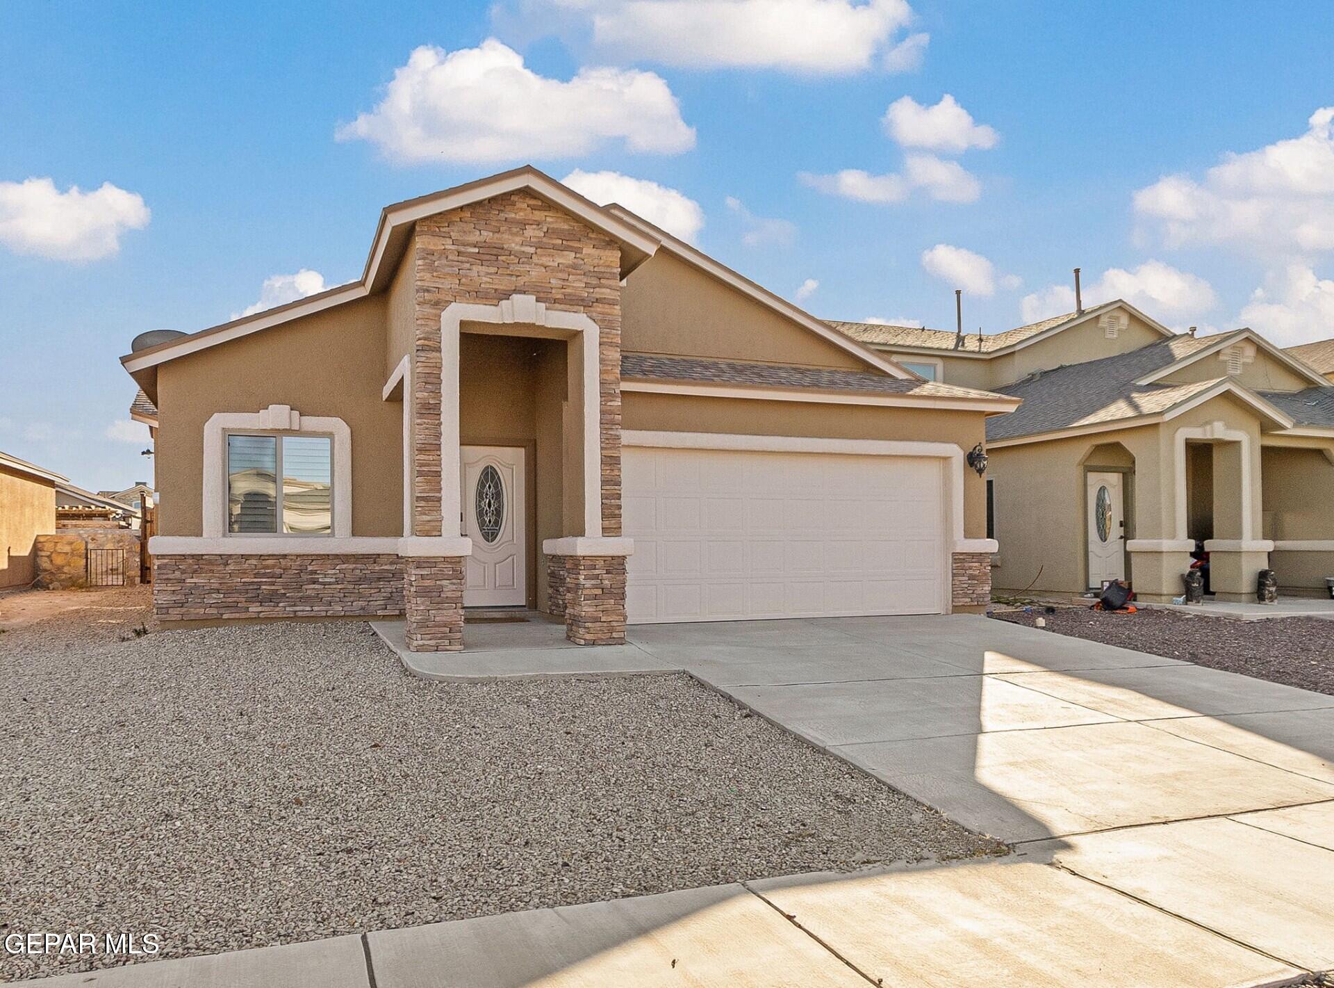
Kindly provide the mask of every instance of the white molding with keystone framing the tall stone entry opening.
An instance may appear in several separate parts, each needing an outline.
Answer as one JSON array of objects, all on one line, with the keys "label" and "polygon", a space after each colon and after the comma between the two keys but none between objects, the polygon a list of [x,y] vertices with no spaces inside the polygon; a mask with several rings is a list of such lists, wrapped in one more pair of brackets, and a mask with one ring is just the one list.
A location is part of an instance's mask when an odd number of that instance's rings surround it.
[{"label": "white molding with keystone framing the tall stone entry opening", "polygon": [[[580,368],[582,385],[583,534],[600,537],[602,360],[598,323],[583,312],[547,308],[532,295],[511,295],[496,306],[451,302],[440,314],[440,517],[444,525],[456,525],[463,510],[459,474],[459,336],[463,323],[500,324],[506,327],[503,334],[510,336],[578,340],[579,360],[571,360],[571,366]],[[528,327],[538,327],[538,331],[528,331]]]}]

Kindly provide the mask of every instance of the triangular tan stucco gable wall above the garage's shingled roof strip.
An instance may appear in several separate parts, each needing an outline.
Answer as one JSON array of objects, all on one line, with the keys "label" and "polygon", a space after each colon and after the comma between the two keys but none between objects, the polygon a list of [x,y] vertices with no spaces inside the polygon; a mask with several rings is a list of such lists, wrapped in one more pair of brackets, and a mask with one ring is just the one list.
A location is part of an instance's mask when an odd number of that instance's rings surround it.
[{"label": "triangular tan stucco gable wall above the garage's shingled roof strip", "polygon": [[866,362],[692,264],[659,251],[622,288],[622,350],[866,368]]}]

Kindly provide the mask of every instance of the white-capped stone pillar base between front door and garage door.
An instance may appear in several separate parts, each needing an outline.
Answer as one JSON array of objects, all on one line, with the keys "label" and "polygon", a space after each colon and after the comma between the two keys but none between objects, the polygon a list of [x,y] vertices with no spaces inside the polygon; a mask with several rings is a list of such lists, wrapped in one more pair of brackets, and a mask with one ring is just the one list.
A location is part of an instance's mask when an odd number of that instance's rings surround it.
[{"label": "white-capped stone pillar base between front door and garage door", "polygon": [[564,615],[566,637],[576,645],[620,645],[626,641],[626,557],[628,538],[548,538],[548,607]]}]

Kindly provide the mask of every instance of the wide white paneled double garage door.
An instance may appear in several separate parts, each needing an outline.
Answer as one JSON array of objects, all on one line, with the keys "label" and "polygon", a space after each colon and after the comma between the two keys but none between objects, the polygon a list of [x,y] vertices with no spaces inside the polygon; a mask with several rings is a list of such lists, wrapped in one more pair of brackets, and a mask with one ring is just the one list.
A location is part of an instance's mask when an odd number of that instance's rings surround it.
[{"label": "wide white paneled double garage door", "polygon": [[627,447],[630,622],[940,613],[943,462]]}]

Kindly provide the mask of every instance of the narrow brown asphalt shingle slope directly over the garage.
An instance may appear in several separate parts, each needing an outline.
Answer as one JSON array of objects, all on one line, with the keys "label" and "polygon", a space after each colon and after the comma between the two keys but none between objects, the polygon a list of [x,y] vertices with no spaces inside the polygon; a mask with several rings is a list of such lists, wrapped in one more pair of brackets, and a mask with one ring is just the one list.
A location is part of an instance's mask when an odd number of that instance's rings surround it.
[{"label": "narrow brown asphalt shingle slope directly over the garage", "polygon": [[762,387],[810,387],[823,391],[878,391],[912,394],[930,398],[994,398],[990,391],[938,385],[918,378],[891,378],[879,371],[794,367],[774,363],[739,363],[704,360],[694,356],[651,356],[622,354],[623,378],[699,381],[716,385],[755,385]]}]

